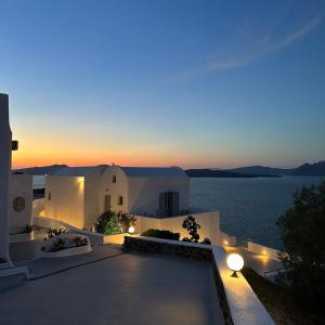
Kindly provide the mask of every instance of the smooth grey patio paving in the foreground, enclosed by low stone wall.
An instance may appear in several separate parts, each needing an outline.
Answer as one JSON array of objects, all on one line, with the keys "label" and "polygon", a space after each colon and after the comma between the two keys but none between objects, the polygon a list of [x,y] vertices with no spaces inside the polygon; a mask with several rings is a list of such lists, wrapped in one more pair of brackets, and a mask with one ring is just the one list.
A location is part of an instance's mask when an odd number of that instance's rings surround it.
[{"label": "smooth grey patio paving in the foreground, enclosed by low stone wall", "polygon": [[209,262],[140,252],[2,292],[0,314],[1,325],[223,324]]}]

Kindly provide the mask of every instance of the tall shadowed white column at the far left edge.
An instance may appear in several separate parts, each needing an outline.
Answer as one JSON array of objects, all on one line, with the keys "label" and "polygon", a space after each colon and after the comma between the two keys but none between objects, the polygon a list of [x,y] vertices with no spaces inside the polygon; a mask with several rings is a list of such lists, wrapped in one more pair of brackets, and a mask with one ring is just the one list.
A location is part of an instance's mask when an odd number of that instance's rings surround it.
[{"label": "tall shadowed white column at the far left edge", "polygon": [[9,176],[11,170],[9,98],[0,93],[0,259],[9,258]]}]

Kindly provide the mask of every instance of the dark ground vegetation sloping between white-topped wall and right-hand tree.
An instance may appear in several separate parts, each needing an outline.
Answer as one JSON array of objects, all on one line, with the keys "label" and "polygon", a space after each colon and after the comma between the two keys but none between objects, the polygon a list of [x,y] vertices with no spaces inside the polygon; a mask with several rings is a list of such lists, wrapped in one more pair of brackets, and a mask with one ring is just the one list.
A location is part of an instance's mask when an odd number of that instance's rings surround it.
[{"label": "dark ground vegetation sloping between white-topped wall and right-hand tree", "polygon": [[324,317],[299,308],[295,303],[289,288],[270,282],[247,266],[244,266],[242,273],[276,324],[325,324]]}]

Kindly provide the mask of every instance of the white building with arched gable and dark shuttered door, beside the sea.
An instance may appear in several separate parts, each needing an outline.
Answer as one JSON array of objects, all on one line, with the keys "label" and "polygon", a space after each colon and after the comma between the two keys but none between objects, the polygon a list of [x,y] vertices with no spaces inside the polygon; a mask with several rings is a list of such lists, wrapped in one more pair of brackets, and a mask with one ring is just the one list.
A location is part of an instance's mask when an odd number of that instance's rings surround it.
[{"label": "white building with arched gable and dark shuttered door, beside the sea", "polygon": [[190,178],[178,167],[66,167],[46,178],[44,216],[91,229],[105,210],[172,217],[188,200]]}]

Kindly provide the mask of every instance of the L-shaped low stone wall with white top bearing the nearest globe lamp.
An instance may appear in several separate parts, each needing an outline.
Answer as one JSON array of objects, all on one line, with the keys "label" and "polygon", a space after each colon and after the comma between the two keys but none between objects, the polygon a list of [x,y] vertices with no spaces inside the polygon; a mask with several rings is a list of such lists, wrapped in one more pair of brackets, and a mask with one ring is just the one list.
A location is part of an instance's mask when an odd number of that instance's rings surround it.
[{"label": "L-shaped low stone wall with white top bearing the nearest globe lamp", "polygon": [[226,252],[222,247],[150,237],[126,236],[125,239],[123,248],[126,250],[141,250],[211,261],[224,324],[275,324],[242,273],[238,272],[238,277],[231,276],[232,271],[225,262]]}]

